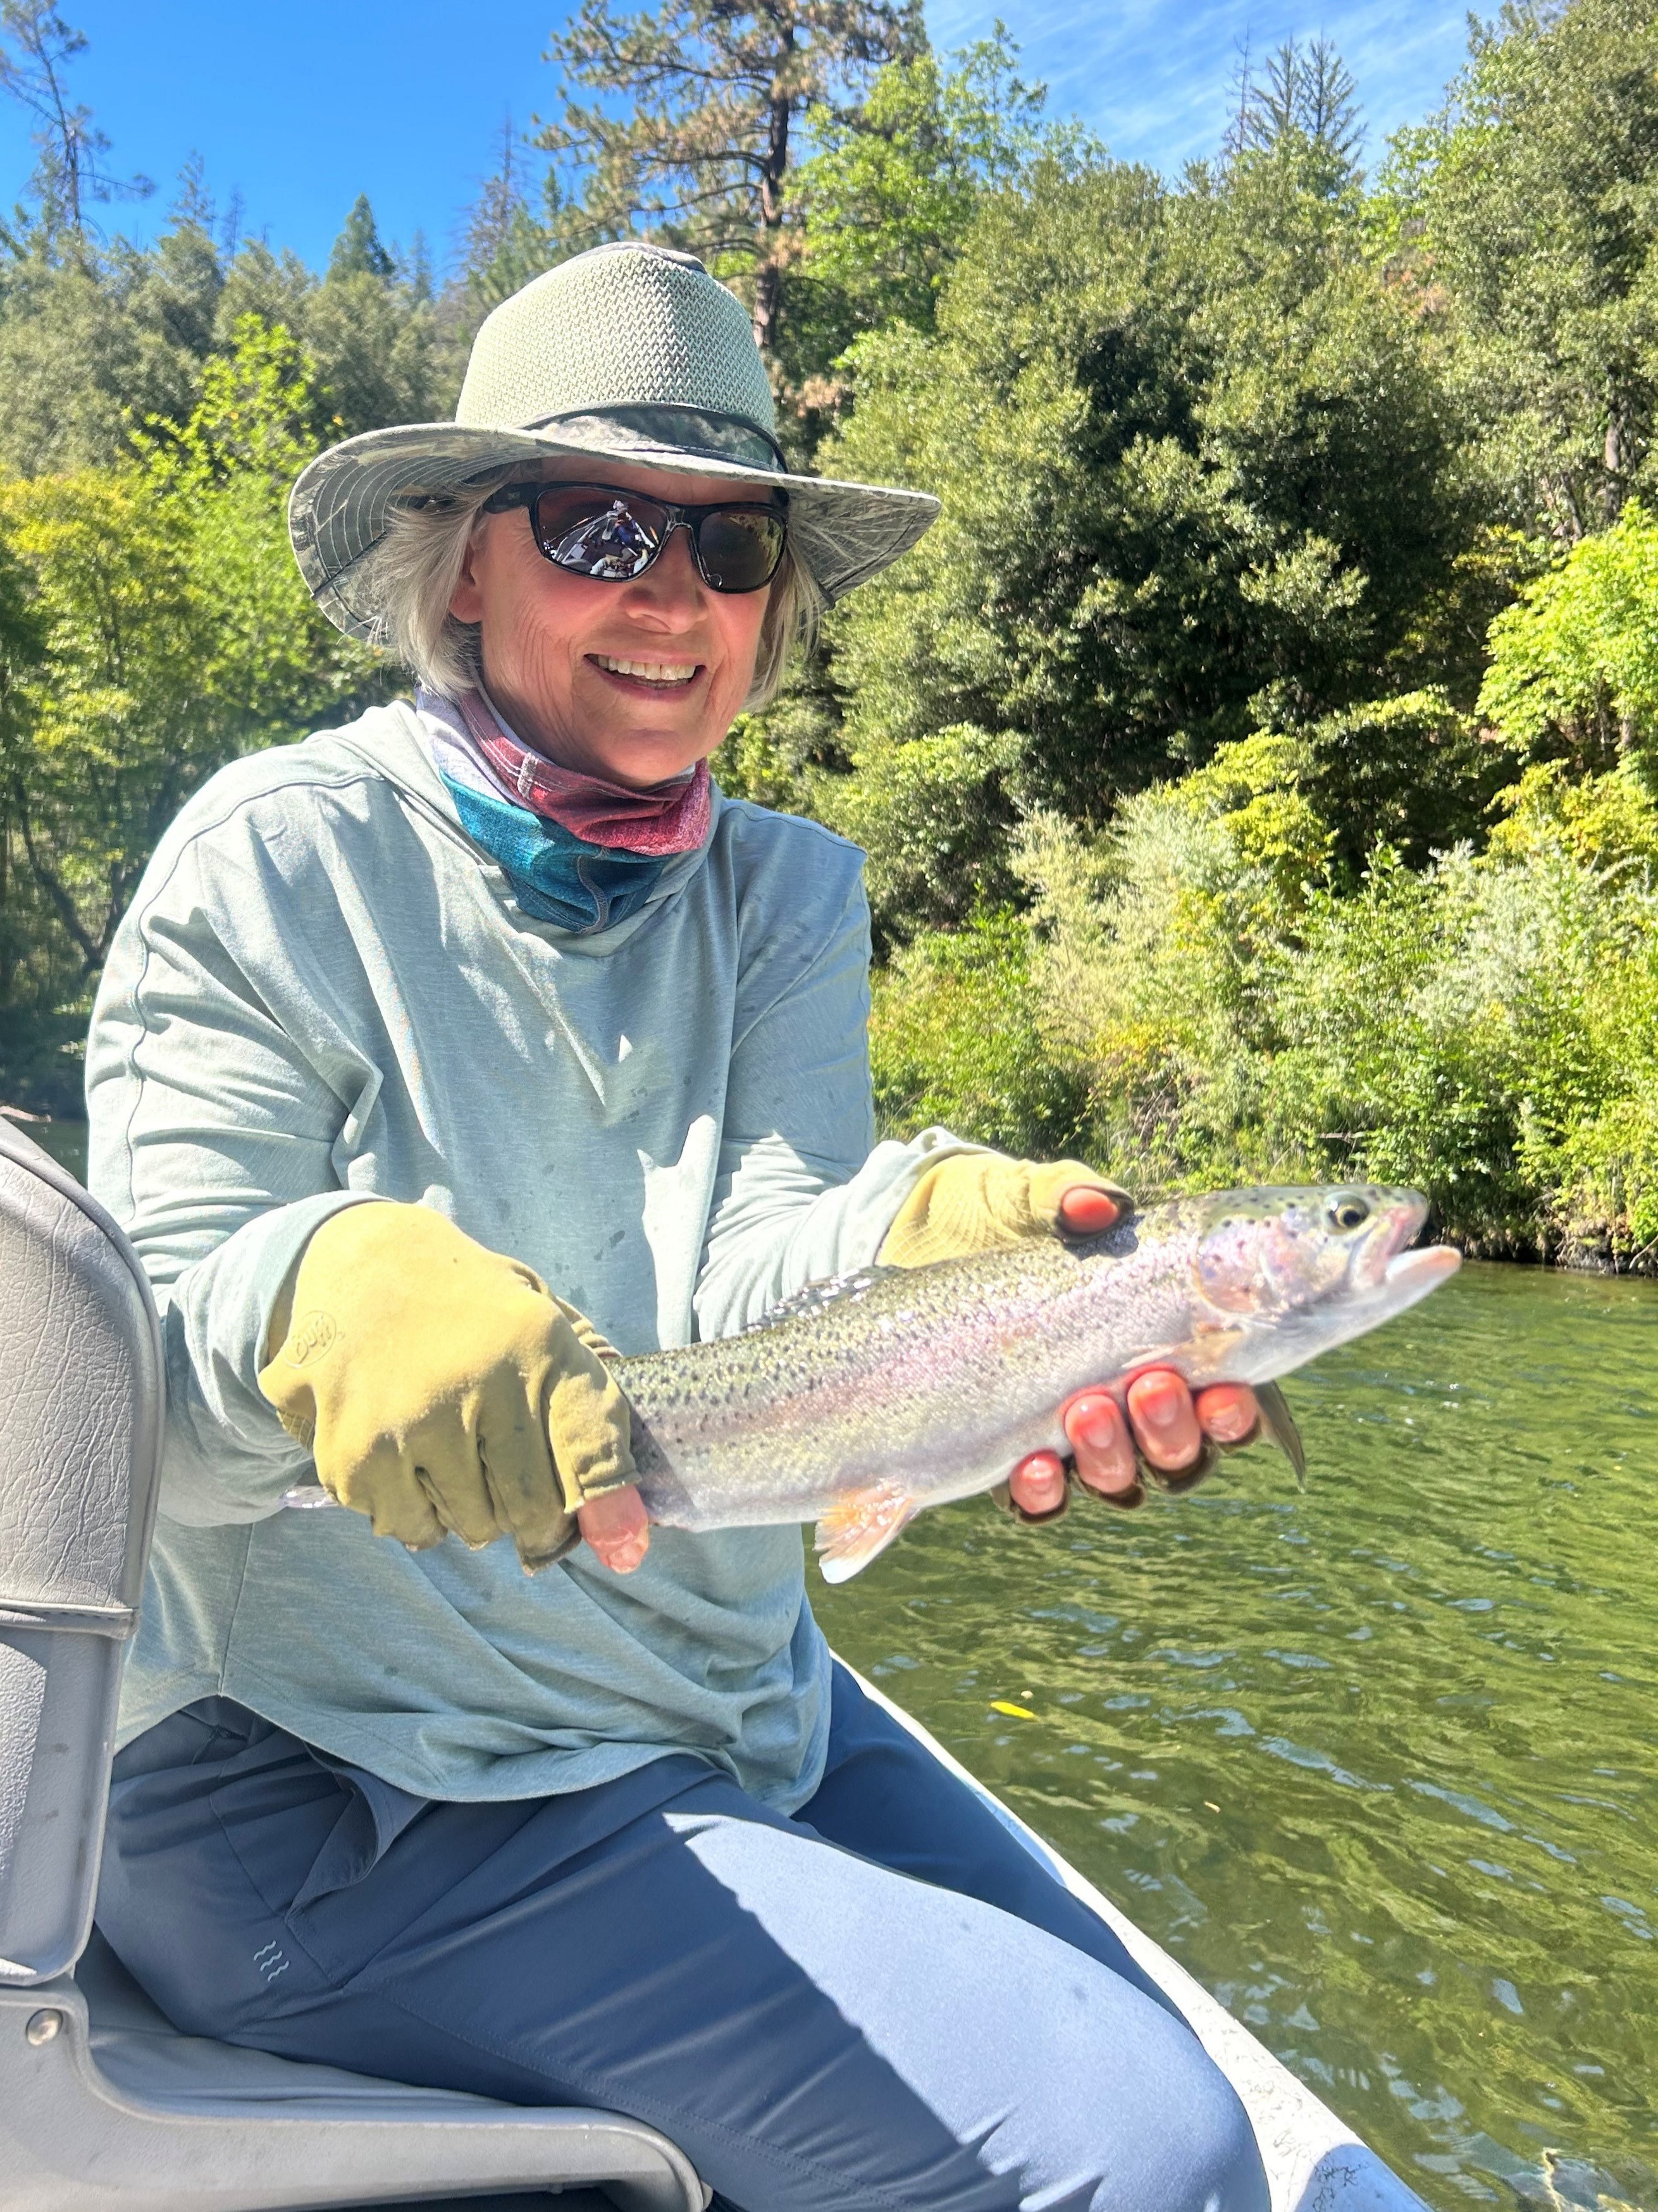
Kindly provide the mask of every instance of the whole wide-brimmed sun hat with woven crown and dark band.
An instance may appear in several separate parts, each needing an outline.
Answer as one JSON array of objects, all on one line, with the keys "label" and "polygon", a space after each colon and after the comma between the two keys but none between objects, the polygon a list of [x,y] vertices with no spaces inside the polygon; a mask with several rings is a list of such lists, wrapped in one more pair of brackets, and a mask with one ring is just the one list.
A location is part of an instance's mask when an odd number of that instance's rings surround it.
[{"label": "whole wide-brimmed sun hat with woven crown and dark band", "polygon": [[312,597],[352,637],[381,637],[374,551],[390,515],[551,456],[784,491],[795,557],[830,602],[905,553],[939,513],[925,491],[790,476],[742,303],[693,254],[598,246],[494,310],[454,422],[372,429],[310,462],[288,531]]}]

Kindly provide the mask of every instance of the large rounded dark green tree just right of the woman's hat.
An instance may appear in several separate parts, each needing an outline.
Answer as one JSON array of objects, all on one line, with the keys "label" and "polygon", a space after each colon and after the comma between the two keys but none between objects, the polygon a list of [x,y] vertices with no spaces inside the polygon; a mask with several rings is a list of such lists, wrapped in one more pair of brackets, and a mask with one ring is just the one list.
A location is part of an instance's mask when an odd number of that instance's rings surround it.
[{"label": "large rounded dark green tree just right of the woman's hat", "polygon": [[[985,823],[1102,821],[1253,726],[1419,688],[1412,628],[1470,529],[1457,422],[1419,319],[1308,161],[1288,142],[1184,192],[1045,166],[985,199],[934,338],[854,347],[826,465],[945,502],[832,628],[857,774],[815,803],[874,836],[877,874],[883,810],[861,794],[912,790],[899,754],[939,732],[983,732]],[[1003,891],[954,836],[903,883],[892,933]]]}]

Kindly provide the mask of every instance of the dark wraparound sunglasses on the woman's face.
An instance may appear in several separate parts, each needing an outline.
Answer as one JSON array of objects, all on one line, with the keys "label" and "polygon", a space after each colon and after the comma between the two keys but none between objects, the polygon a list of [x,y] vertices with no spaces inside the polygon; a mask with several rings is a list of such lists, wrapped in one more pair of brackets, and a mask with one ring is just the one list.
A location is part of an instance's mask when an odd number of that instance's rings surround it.
[{"label": "dark wraparound sunglasses on the woman's face", "polygon": [[483,507],[487,515],[527,507],[542,560],[609,584],[644,575],[669,538],[684,529],[697,575],[711,591],[759,591],[777,575],[788,540],[781,507],[746,500],[675,507],[615,484],[502,484]]}]

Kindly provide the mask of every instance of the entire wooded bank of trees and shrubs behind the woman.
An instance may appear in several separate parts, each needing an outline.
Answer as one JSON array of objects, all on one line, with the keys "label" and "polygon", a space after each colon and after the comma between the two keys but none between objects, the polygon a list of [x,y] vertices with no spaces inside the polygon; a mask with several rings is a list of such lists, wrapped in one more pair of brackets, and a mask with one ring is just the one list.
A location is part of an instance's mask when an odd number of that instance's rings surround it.
[{"label": "entire wooded bank of trees and shrubs behind the woman", "polygon": [[299,586],[294,471],[445,414],[498,299],[644,226],[755,307],[797,456],[945,502],[717,763],[870,854],[883,1124],[1142,1190],[1377,1175],[1481,1250],[1658,1267],[1636,0],[1476,27],[1372,190],[1322,40],[1240,71],[1171,184],[1047,122],[1001,29],[939,62],[910,0],[589,0],[553,168],[505,126],[436,292],[367,199],[321,276],[199,175],[106,239],[77,33],[0,33],[51,111],[0,237],[13,1097],[66,1099],[179,799],[381,681]]}]

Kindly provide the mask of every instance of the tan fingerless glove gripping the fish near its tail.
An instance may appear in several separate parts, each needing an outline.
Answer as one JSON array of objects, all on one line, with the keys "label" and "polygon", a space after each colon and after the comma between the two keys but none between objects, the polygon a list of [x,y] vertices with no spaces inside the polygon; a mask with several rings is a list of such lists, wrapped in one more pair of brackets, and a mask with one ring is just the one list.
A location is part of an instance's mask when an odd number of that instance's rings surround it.
[{"label": "tan fingerless glove gripping the fish near its tail", "polygon": [[376,1535],[509,1535],[533,1571],[573,1548],[578,1506],[633,1480],[613,1356],[520,1261],[429,1206],[376,1201],[312,1234],[259,1389]]}]

